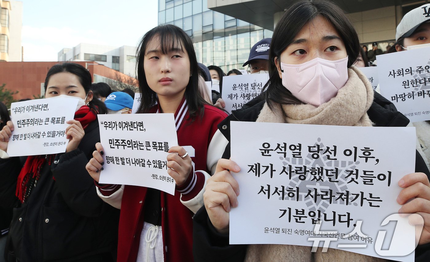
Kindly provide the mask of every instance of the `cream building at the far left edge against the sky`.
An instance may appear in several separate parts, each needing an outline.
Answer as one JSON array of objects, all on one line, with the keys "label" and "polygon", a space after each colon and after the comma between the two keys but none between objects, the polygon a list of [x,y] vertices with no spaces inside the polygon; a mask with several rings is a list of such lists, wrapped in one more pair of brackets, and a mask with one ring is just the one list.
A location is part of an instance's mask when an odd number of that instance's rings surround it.
[{"label": "cream building at the far left edge against the sky", "polygon": [[22,61],[22,2],[0,0],[0,61]]}]

